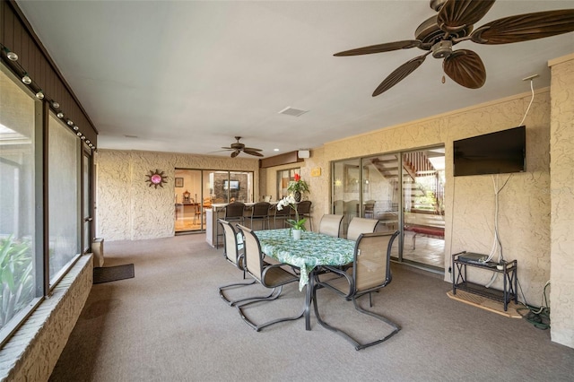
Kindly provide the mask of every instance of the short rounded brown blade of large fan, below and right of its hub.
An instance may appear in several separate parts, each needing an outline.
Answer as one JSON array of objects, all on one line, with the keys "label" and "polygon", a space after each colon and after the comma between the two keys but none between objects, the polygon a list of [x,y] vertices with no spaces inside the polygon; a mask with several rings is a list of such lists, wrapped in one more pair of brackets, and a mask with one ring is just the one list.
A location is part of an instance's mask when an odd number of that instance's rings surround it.
[{"label": "short rounded brown blade of large fan, below and right of its hub", "polygon": [[472,50],[459,49],[442,62],[445,73],[454,82],[469,89],[478,89],[486,82],[483,60]]}]

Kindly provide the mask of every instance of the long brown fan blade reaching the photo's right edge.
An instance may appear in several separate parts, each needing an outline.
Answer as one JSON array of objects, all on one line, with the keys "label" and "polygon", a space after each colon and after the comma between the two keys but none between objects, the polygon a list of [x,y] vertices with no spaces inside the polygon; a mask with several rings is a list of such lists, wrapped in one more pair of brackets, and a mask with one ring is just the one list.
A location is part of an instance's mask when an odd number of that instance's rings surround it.
[{"label": "long brown fan blade reaching the photo's right edge", "polygon": [[478,44],[509,44],[574,31],[574,9],[517,14],[488,22],[470,38]]}]

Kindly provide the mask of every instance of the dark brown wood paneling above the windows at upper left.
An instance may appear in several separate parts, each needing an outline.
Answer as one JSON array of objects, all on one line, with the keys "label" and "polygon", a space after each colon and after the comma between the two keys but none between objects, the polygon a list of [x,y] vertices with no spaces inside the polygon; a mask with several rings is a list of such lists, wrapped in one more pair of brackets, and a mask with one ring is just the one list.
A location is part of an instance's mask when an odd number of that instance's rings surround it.
[{"label": "dark brown wood paneling above the windows at upper left", "polygon": [[[91,143],[96,144],[98,132],[91,123],[90,117],[83,110],[74,92],[65,79],[59,74],[41,41],[29,29],[28,22],[13,0],[0,0],[0,42],[18,55],[18,64],[30,75],[34,83],[44,91],[45,101],[56,100],[65,120],[71,119],[74,125]],[[10,63],[7,63],[10,65]],[[21,75],[22,73],[17,73]]]}]

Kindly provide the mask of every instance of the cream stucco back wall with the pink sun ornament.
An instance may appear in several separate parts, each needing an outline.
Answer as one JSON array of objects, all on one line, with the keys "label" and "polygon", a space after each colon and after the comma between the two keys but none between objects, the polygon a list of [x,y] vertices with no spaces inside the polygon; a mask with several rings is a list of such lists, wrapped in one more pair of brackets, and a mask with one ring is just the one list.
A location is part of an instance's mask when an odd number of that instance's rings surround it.
[{"label": "cream stucco back wall with the pink sun ornament", "polygon": [[[259,181],[257,160],[100,150],[96,155],[96,236],[106,240],[173,236],[176,168],[253,171],[254,184]],[[163,187],[149,187],[145,181],[150,170],[155,169],[168,177]]]}]

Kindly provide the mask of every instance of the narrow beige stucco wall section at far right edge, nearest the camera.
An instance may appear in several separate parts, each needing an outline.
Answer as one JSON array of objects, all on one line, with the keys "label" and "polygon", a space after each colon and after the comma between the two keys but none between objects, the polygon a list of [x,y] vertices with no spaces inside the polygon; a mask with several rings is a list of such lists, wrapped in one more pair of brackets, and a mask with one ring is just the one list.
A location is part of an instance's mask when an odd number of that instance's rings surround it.
[{"label": "narrow beige stucco wall section at far right edge, nearest the camera", "polygon": [[574,54],[551,67],[551,333],[574,348]]}]

